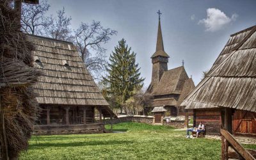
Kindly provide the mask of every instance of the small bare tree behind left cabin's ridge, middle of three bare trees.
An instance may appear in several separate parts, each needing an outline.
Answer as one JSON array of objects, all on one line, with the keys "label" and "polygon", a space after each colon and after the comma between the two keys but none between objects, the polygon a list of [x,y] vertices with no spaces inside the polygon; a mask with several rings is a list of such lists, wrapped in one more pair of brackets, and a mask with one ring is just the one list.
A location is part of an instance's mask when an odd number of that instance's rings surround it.
[{"label": "small bare tree behind left cabin's ridge, middle of three bare trees", "polygon": [[53,19],[52,24],[45,28],[45,36],[58,40],[71,40],[71,17],[65,15],[65,8],[58,10],[57,17]]}]

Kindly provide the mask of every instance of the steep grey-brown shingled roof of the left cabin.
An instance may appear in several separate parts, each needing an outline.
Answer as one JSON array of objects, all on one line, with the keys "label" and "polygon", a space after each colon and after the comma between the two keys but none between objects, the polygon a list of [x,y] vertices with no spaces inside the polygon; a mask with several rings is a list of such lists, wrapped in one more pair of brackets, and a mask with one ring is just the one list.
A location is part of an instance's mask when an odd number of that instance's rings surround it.
[{"label": "steep grey-brown shingled roof of the left cabin", "polygon": [[35,67],[44,73],[34,86],[39,104],[109,105],[72,43],[32,35],[28,40],[35,44]]}]

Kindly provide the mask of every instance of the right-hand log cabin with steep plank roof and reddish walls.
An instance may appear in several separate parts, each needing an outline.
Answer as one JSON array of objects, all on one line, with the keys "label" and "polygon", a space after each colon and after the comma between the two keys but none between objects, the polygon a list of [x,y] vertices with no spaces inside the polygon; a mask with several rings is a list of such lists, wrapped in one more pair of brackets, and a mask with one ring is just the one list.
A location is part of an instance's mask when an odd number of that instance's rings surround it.
[{"label": "right-hand log cabin with steep plank roof and reddish walls", "polygon": [[[230,36],[205,78],[182,102],[192,109],[194,124],[220,135],[229,108],[232,134],[256,136],[256,26]],[[232,125],[231,125],[232,124]]]}]

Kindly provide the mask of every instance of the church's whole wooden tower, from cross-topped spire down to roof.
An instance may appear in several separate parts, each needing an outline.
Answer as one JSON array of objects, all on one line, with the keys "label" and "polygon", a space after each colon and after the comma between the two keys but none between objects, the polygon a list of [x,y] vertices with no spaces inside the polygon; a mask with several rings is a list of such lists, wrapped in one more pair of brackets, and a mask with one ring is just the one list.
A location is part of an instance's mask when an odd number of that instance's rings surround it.
[{"label": "church's whole wooden tower, from cross-topped spire down to roof", "polygon": [[159,15],[159,22],[157,31],[156,52],[154,52],[154,54],[151,56],[153,65],[151,80],[152,85],[159,83],[164,71],[168,70],[167,63],[169,58],[168,54],[164,52],[163,36],[160,23],[160,10],[157,13]]}]

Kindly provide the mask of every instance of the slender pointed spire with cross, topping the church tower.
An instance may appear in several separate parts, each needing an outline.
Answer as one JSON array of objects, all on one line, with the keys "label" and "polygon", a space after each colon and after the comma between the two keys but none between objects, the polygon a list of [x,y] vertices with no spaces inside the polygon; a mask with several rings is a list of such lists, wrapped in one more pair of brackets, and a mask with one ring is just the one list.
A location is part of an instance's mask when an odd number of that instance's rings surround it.
[{"label": "slender pointed spire with cross, topping the church tower", "polygon": [[151,58],[154,58],[156,56],[163,56],[169,58],[168,54],[164,52],[164,43],[163,43],[163,36],[162,36],[162,30],[161,30],[161,22],[160,22],[160,16],[161,12],[158,10],[158,31],[157,31],[157,42],[156,42],[156,52],[151,56]]}]

